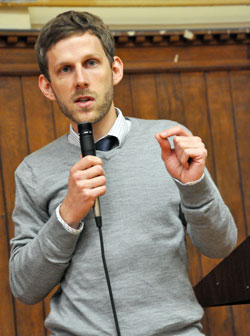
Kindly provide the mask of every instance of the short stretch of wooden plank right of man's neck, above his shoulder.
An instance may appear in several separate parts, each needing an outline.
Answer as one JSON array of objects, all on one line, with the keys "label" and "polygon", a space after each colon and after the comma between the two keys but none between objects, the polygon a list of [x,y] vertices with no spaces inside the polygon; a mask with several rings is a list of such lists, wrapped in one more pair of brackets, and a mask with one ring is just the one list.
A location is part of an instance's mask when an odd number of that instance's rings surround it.
[{"label": "short stretch of wooden plank right of man's neck, above his shoulder", "polygon": [[114,104],[125,116],[133,117],[130,75],[124,75],[122,81],[114,87]]}]

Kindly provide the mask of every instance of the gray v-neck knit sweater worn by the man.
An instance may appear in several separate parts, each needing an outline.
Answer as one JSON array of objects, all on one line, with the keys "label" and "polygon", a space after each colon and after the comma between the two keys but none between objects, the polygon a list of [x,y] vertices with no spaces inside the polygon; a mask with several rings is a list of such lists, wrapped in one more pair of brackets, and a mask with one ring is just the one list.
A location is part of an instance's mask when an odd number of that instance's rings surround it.
[{"label": "gray v-neck knit sweater worn by the man", "polygon": [[[223,257],[235,245],[236,227],[207,171],[192,186],[166,171],[154,135],[176,123],[131,121],[122,146],[97,152],[107,179],[107,193],[100,198],[103,236],[121,334],[201,335],[203,311],[188,279],[185,231],[201,253]],[[45,322],[52,335],[113,336],[92,211],[80,235],[67,232],[55,215],[79,158],[80,148],[63,136],[17,168],[10,283],[27,304],[60,283]]]}]

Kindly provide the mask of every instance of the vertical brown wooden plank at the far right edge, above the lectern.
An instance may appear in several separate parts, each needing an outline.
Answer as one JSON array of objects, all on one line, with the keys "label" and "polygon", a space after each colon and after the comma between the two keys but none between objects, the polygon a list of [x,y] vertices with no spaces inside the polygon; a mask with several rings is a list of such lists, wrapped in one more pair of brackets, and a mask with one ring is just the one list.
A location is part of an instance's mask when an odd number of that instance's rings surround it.
[{"label": "vertical brown wooden plank at the far right edge, above the lectern", "polygon": [[250,234],[250,71],[232,71],[230,72],[230,80],[236,128],[238,163],[241,174],[241,192],[244,205],[245,232],[248,236]]}]

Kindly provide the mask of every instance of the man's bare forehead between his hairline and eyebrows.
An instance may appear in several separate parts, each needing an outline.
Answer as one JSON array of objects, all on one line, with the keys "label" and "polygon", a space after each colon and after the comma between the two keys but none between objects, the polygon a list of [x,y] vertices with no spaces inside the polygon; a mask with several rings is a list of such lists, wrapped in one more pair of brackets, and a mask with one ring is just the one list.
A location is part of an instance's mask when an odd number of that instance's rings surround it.
[{"label": "man's bare forehead between his hairline and eyebrows", "polygon": [[47,52],[49,63],[57,63],[84,55],[105,56],[101,41],[89,32],[66,37],[54,44]]}]

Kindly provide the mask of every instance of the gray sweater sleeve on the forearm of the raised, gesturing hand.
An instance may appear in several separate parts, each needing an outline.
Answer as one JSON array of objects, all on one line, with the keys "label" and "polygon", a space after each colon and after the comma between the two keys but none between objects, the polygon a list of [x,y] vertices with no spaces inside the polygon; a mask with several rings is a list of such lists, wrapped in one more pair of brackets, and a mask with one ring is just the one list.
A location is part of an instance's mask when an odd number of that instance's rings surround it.
[{"label": "gray sweater sleeve on the forearm of the raised, gesturing hand", "polygon": [[235,247],[237,228],[208,171],[194,185],[176,185],[192,243],[207,257],[226,257]]}]

